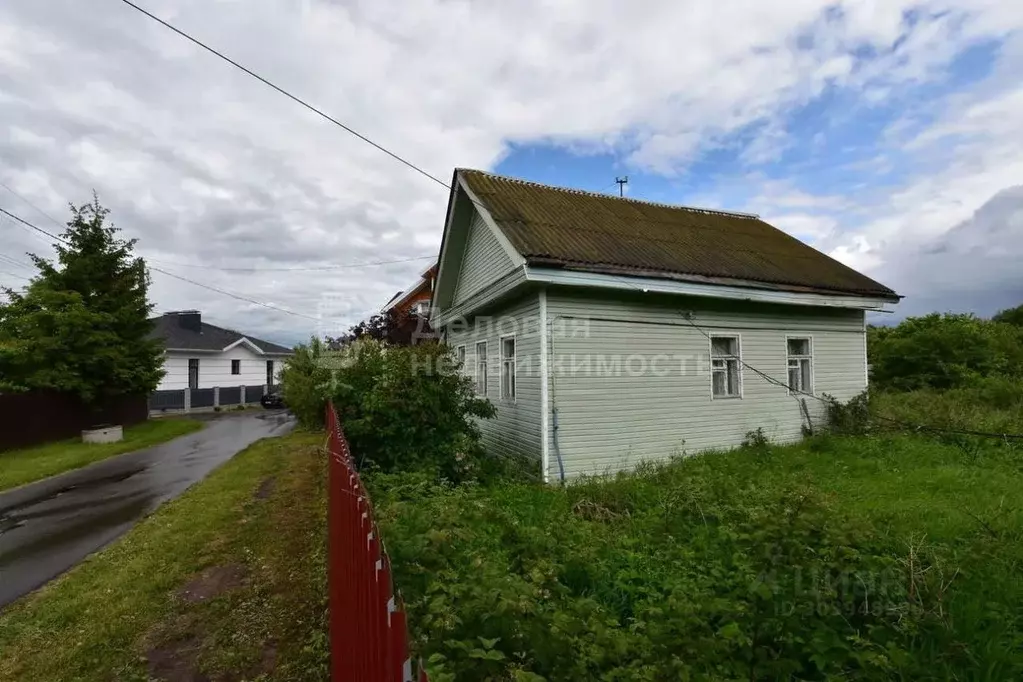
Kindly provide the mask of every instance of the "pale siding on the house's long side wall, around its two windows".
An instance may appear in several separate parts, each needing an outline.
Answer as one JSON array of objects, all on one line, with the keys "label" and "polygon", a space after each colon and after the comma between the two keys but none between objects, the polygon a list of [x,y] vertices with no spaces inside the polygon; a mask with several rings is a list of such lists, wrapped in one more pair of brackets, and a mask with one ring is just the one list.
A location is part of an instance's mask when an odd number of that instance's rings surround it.
[{"label": "pale siding on the house's long side wall, around its two windows", "polygon": [[[864,388],[862,311],[728,304],[650,295],[548,292],[551,325],[550,476],[558,453],[568,476],[634,466],[644,459],[732,448],[763,428],[772,442],[801,436],[800,405],[785,388],[742,369],[738,399],[712,399],[706,332],[736,334],[742,360],[787,380],[786,337],[812,338],[814,393],[848,400]],[[616,368],[617,366],[617,368]],[[806,399],[814,424],[819,401]]]}]

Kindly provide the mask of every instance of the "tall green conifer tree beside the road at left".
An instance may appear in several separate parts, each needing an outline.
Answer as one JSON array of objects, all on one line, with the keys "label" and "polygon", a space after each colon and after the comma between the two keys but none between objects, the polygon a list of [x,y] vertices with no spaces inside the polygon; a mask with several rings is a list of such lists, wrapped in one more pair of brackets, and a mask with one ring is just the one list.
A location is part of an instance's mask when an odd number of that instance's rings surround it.
[{"label": "tall green conifer tree beside the road at left", "polygon": [[163,349],[149,338],[145,262],[97,197],[71,211],[56,263],[32,255],[39,274],[0,305],[0,390],[61,391],[96,406],[151,393]]}]

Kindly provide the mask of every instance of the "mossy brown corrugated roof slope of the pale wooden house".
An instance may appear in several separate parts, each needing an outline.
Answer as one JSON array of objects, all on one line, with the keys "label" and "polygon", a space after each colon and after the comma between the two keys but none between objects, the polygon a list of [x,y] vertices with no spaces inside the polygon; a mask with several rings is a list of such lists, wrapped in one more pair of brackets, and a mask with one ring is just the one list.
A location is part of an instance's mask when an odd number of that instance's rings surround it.
[{"label": "mossy brown corrugated roof slope of the pale wooden house", "polygon": [[458,174],[530,265],[897,299],[749,214]]}]

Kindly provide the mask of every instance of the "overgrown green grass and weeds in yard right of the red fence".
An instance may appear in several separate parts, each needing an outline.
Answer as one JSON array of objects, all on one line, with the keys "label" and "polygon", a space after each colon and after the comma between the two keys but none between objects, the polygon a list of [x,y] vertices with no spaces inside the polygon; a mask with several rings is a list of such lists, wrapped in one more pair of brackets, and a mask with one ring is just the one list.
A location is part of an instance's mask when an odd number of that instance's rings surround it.
[{"label": "overgrown green grass and weeds in yard right of the red fence", "polygon": [[565,489],[370,487],[432,680],[1023,677],[1023,448],[831,437]]}]

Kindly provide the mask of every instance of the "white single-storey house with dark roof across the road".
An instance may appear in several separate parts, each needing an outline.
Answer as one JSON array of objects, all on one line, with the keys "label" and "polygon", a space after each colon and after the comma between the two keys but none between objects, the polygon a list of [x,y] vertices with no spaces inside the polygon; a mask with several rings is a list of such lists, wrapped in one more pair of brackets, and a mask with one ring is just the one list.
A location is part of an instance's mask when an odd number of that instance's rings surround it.
[{"label": "white single-storey house with dark roof across the road", "polygon": [[158,391],[276,384],[292,349],[203,322],[196,310],[152,320],[150,336],[164,343]]}]

